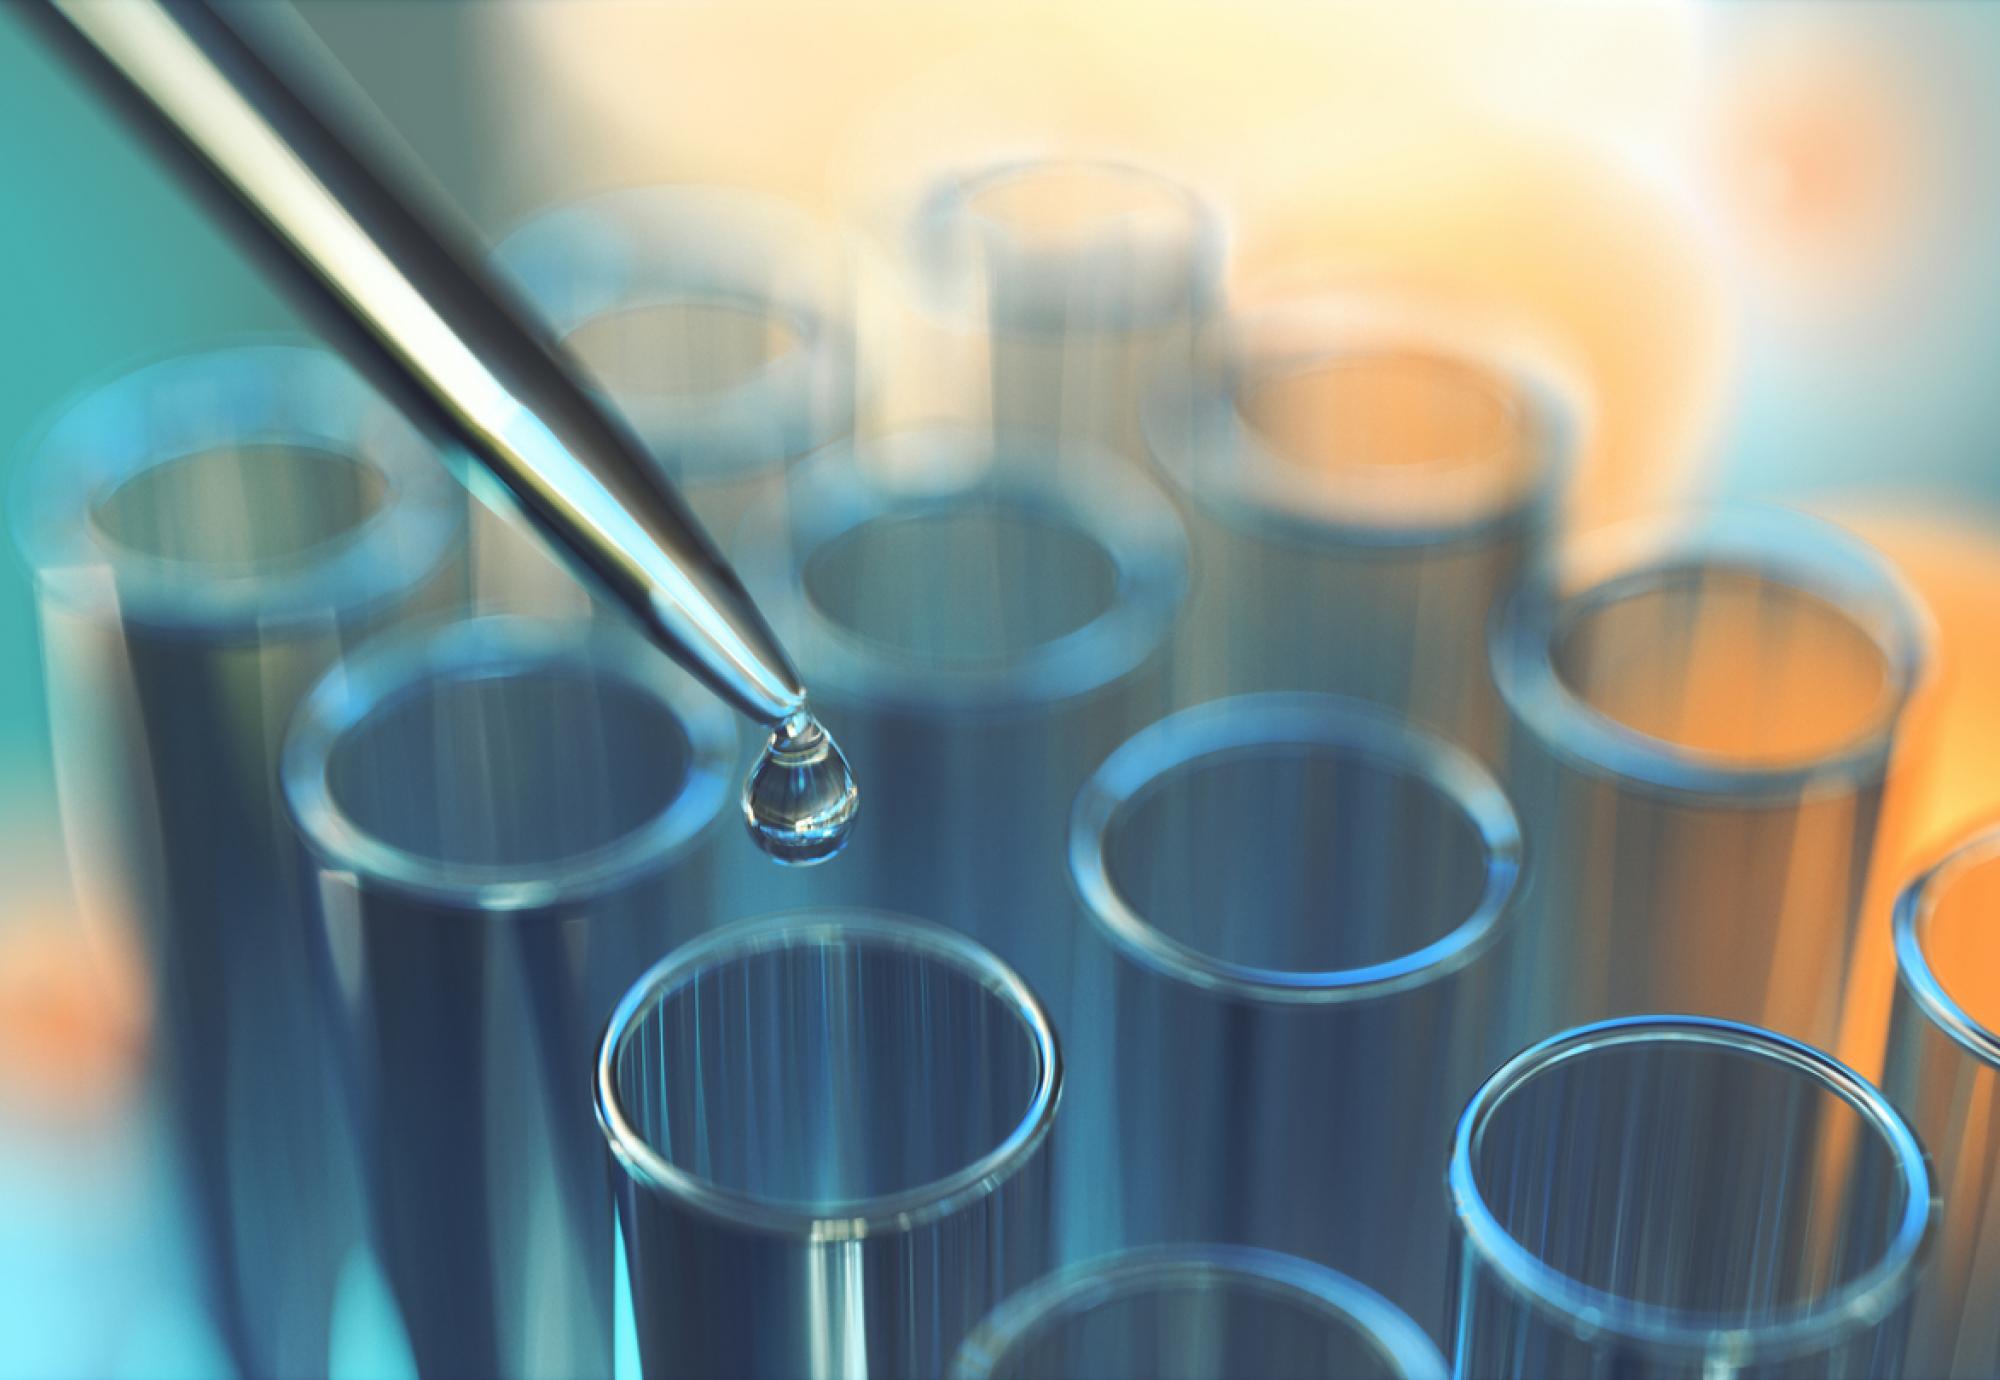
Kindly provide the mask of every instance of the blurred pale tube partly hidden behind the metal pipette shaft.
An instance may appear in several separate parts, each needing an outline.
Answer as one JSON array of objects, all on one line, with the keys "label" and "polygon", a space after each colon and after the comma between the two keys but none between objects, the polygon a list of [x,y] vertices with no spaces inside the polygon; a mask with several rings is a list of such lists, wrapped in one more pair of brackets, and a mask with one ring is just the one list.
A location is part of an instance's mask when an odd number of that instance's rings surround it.
[{"label": "blurred pale tube partly hidden behind the metal pipette shaft", "polygon": [[[530,218],[494,264],[720,542],[782,498],[786,464],[854,424],[852,268],[804,210],[724,188],[624,188]],[[548,604],[538,592],[568,584],[526,534],[484,522],[494,602]],[[572,586],[554,602],[578,600]]]}]

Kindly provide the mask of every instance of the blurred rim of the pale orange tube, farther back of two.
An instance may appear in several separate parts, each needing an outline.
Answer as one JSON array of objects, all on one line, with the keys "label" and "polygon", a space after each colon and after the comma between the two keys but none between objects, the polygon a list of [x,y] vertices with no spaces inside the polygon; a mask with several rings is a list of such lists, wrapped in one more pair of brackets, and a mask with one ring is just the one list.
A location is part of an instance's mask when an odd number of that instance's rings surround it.
[{"label": "blurred rim of the pale orange tube, farther back of two", "polygon": [[[1220,336],[1204,340],[1192,360],[1160,364],[1140,398],[1140,430],[1158,468],[1188,502],[1216,520],[1308,544],[1334,540],[1394,554],[1412,546],[1484,542],[1552,522],[1578,452],[1578,406],[1554,376],[1526,358],[1502,358],[1480,340],[1384,326],[1364,308],[1364,302],[1344,298],[1304,298],[1244,312],[1224,320]],[[1246,372],[1236,340],[1274,324],[1310,330],[1314,344],[1288,348]],[[1454,476],[1494,456],[1402,466],[1400,472],[1340,466],[1316,474],[1278,454],[1238,408],[1250,386],[1388,358],[1420,358],[1464,370],[1498,396],[1524,456],[1520,482],[1496,486],[1492,502],[1462,514],[1426,516],[1414,504],[1408,514],[1372,512],[1330,480],[1366,470],[1400,480],[1404,488],[1450,488]]]}]

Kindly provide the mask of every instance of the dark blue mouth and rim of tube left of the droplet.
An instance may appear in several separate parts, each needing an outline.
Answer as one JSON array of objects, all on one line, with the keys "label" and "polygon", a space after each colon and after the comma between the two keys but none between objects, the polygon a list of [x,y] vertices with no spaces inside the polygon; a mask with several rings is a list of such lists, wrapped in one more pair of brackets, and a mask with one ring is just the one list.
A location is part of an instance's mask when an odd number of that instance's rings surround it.
[{"label": "dark blue mouth and rim of tube left of the droplet", "polygon": [[424,890],[598,886],[718,816],[720,706],[612,628],[482,618],[330,676],[288,744],[322,854]]}]

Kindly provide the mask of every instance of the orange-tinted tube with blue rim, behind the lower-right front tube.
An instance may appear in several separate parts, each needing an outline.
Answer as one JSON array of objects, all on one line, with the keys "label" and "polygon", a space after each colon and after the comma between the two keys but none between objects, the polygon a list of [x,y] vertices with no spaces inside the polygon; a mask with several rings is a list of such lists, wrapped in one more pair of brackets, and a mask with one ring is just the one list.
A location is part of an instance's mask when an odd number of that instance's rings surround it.
[{"label": "orange-tinted tube with blue rim, behind the lower-right front tube", "polygon": [[1496,612],[1536,862],[1518,1042],[1676,1010],[1830,1046],[1924,614],[1780,508],[1608,528]]}]

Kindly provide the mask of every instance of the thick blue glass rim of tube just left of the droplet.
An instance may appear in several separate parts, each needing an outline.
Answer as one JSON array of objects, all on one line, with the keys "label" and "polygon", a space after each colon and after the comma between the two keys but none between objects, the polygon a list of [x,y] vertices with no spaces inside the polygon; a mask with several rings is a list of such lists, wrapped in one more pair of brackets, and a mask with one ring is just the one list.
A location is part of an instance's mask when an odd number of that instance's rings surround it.
[{"label": "thick blue glass rim of tube just left of the droplet", "polygon": [[[498,680],[532,670],[574,670],[620,680],[664,706],[688,736],[680,790],[640,826],[568,858],[458,864],[400,848],[362,828],[326,780],[344,734],[426,680]],[[336,664],[292,716],[280,784],[308,850],[338,868],[470,914],[518,914],[598,896],[664,868],[704,836],[730,800],[736,732],[728,710],[656,650],[594,622],[480,616],[424,624],[372,640]]]}]

